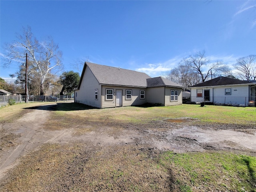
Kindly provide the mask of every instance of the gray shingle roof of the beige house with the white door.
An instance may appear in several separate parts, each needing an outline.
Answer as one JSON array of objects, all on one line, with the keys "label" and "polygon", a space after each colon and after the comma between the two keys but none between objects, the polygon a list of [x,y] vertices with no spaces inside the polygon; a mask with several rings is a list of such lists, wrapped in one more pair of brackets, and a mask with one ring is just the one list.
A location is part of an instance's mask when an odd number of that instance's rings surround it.
[{"label": "gray shingle roof of the beige house with the white door", "polygon": [[80,88],[86,67],[92,71],[99,84],[102,85],[144,88],[159,86],[184,87],[162,77],[151,78],[143,72],[85,62],[78,89]]}]

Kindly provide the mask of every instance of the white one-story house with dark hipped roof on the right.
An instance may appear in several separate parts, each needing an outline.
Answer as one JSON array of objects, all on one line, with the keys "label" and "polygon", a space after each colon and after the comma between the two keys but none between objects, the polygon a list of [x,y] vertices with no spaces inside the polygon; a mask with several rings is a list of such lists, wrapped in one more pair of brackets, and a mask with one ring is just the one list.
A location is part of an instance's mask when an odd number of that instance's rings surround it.
[{"label": "white one-story house with dark hipped roof on the right", "polygon": [[[227,77],[190,86],[191,102],[211,102],[219,105],[248,106],[255,102],[256,83]],[[254,102],[253,102],[254,101]]]}]

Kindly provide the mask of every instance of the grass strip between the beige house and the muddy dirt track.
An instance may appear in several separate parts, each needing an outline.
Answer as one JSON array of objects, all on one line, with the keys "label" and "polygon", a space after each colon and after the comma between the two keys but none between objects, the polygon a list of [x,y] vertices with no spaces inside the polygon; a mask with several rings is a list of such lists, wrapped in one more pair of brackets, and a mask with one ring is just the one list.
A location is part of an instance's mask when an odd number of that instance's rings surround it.
[{"label": "grass strip between the beige house and the muddy dirt track", "polygon": [[[68,110],[69,108],[76,110]],[[165,107],[138,107],[127,106],[121,108],[95,109],[83,104],[62,103],[57,106],[56,112],[61,116],[70,116],[78,120],[92,122],[118,121],[120,123],[148,123],[151,120],[163,120],[167,118],[196,118],[201,122],[241,124],[256,126],[256,108],[230,107],[230,106],[206,106],[183,104],[179,106]],[[72,118],[73,118],[72,117]]]}]

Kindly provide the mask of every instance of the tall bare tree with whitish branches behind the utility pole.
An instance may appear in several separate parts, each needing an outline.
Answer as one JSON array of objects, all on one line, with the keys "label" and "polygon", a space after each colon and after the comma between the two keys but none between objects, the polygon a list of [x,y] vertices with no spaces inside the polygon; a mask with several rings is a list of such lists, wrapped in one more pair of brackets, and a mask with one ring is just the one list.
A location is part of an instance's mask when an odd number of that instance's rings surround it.
[{"label": "tall bare tree with whitish branches behind the utility pole", "polygon": [[28,54],[28,60],[32,67],[28,73],[36,73],[40,78],[40,95],[44,94],[44,82],[51,72],[62,69],[62,52],[52,38],[38,41],[32,34],[31,28],[23,28],[23,34],[17,36],[16,41],[6,48],[6,60],[4,66],[11,63],[24,63],[24,57]]}]

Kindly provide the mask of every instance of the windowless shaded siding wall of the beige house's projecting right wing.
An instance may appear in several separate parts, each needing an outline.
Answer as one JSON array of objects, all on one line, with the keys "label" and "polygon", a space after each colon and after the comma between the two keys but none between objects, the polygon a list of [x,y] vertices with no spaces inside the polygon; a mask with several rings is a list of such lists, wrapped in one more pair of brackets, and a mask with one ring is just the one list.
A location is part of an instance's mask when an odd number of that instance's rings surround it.
[{"label": "windowless shaded siding wall of the beige house's projecting right wing", "polygon": [[146,99],[150,104],[164,105],[164,87],[147,88]]}]

